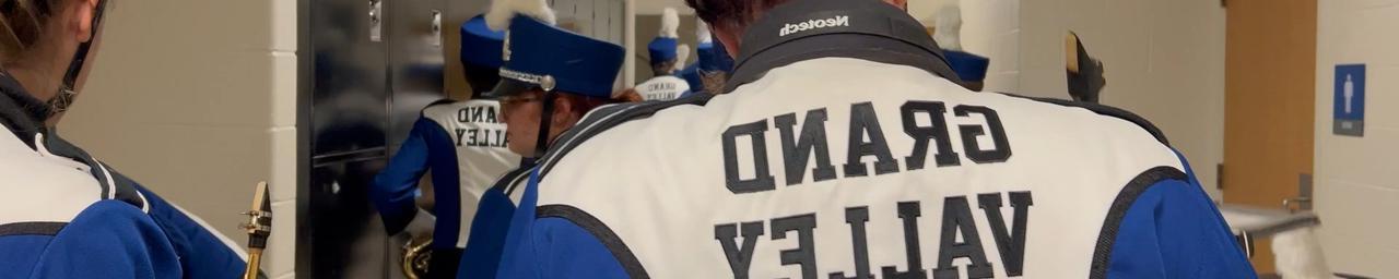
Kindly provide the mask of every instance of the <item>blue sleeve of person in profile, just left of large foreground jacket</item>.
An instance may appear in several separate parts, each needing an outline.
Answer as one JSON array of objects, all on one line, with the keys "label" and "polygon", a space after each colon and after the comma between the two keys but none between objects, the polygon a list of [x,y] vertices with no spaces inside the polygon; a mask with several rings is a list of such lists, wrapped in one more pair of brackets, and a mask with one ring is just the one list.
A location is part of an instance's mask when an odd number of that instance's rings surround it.
[{"label": "blue sleeve of person in profile, just left of large foreground jacket", "polygon": [[471,218],[471,232],[466,251],[462,252],[457,278],[495,278],[513,213],[515,204],[501,188],[491,188],[481,195],[481,204]]}]

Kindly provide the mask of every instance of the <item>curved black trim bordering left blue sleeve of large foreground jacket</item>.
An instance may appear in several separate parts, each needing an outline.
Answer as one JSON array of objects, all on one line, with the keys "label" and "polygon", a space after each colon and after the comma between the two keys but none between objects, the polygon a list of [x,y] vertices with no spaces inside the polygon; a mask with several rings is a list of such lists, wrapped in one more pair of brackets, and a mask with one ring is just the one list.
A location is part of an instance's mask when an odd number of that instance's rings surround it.
[{"label": "curved black trim bordering left blue sleeve of large foreground jacket", "polygon": [[593,218],[593,215],[569,205],[544,205],[534,209],[534,212],[539,219],[565,219],[574,222],[574,225],[578,225],[583,230],[588,230],[588,233],[592,233],[593,237],[596,237],[597,241],[602,241],[603,246],[607,247],[607,251],[611,251],[613,257],[617,258],[617,264],[621,264],[621,268],[627,271],[627,278],[651,278],[646,275],[646,268],[641,266],[641,261],[637,259],[637,254],[632,254],[631,248],[627,248],[627,244],[621,241],[621,237],[617,237],[617,233],[607,227],[607,225],[602,220],[597,220],[597,218]]}]

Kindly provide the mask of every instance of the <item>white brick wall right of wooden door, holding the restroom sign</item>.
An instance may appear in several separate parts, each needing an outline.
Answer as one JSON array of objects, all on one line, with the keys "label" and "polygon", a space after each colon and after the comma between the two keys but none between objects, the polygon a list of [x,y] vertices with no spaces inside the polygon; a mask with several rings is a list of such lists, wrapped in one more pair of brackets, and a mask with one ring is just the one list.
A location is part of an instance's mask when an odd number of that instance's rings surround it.
[{"label": "white brick wall right of wooden door, holding the restroom sign", "polygon": [[[1319,0],[1316,213],[1336,272],[1399,278],[1399,0]],[[1332,135],[1336,64],[1364,63],[1365,137]]]}]

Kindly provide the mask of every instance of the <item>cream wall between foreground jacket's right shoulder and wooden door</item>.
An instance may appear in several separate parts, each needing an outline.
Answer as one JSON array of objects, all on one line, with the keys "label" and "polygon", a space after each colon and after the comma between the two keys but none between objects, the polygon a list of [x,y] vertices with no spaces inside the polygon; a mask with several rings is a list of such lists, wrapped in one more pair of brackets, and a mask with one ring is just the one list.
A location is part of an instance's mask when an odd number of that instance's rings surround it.
[{"label": "cream wall between foreground jacket's right shoulder and wooden door", "polygon": [[1020,93],[1067,99],[1063,36],[1105,64],[1102,103],[1167,133],[1219,197],[1224,145],[1224,10],[1217,0],[1024,1]]}]

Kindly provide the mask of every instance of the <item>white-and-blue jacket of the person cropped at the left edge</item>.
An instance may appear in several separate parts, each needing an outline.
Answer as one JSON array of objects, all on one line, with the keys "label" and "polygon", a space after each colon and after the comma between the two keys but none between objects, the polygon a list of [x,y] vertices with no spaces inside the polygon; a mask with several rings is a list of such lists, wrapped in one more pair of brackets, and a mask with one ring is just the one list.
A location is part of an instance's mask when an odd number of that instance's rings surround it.
[{"label": "white-and-blue jacket of the person cropped at the left edge", "polygon": [[0,134],[0,278],[180,278],[158,220],[88,167]]}]

